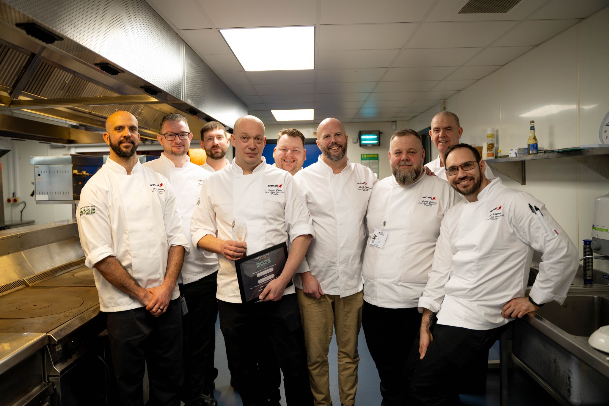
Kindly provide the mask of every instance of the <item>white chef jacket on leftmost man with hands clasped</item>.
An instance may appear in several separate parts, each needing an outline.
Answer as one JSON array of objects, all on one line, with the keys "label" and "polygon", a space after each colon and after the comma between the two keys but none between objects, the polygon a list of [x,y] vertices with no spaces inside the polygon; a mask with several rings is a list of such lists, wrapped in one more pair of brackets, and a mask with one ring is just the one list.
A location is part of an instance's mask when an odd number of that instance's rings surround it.
[{"label": "white chef jacket on leftmost man with hands clasped", "polygon": [[[167,178],[139,161],[127,170],[112,159],[85,184],[77,209],[85,265],[93,268],[107,256],[148,289],[163,284],[167,253],[174,245],[189,250],[180,209]],[[97,270],[93,278],[102,312],[136,309],[144,304],[116,289]],[[180,296],[175,284],[172,299]]]}]

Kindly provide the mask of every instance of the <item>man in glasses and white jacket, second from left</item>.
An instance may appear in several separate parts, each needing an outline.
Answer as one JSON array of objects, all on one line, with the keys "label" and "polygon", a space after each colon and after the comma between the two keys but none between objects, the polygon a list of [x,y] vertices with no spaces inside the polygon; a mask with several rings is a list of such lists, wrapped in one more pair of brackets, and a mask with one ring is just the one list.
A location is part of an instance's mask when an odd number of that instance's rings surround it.
[{"label": "man in glasses and white jacket, second from left", "polygon": [[[163,145],[160,158],[144,164],[169,180],[178,195],[178,206],[182,215],[182,229],[190,235],[192,211],[196,207],[203,181],[211,174],[199,165],[191,163],[188,148],[192,133],[186,116],[180,113],[167,114],[161,119],[158,142]],[[192,243],[192,242],[191,242]],[[214,379],[218,370],[214,368],[216,349],[216,276],[218,256],[207,251],[198,251],[191,245],[178,284],[186,306],[182,320],[183,329],[183,383],[180,390],[185,406],[216,406]]]}]

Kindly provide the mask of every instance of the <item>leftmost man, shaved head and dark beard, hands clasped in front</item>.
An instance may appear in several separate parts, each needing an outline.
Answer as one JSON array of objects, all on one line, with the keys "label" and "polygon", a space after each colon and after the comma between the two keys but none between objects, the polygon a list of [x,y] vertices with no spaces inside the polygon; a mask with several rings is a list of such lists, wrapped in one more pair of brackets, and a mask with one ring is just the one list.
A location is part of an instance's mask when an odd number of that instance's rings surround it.
[{"label": "leftmost man, shaved head and dark beard, hands clasped in front", "polygon": [[175,283],[189,243],[167,178],[139,163],[138,121],[117,111],[106,121],[110,158],[85,184],[77,210],[85,265],[95,268],[110,352],[124,405],[180,405],[180,292]]}]

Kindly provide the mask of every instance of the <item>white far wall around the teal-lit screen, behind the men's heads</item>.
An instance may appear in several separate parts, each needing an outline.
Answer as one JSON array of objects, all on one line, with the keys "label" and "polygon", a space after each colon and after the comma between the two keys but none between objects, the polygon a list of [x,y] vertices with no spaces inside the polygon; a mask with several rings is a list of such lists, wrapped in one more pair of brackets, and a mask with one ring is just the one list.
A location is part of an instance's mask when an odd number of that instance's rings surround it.
[{"label": "white far wall around the teal-lit screen, behind the men's heads", "polygon": [[[403,128],[404,122],[397,122],[396,128]],[[270,123],[264,123],[266,127],[267,139],[276,139],[277,133],[284,128],[297,128],[305,136],[305,138],[315,138],[313,136],[314,131],[317,131],[318,124],[291,124],[286,122],[285,125],[276,125]],[[379,130],[381,134],[381,146],[380,147],[360,147],[359,142],[354,144],[353,138],[357,138],[359,131],[362,130]],[[345,131],[349,136],[349,142],[347,147],[347,157],[351,162],[361,163],[362,153],[378,153],[379,155],[379,179],[388,177],[391,175],[391,168],[389,167],[389,138],[395,132],[392,129],[391,122],[357,122],[357,123],[345,123]]]}]

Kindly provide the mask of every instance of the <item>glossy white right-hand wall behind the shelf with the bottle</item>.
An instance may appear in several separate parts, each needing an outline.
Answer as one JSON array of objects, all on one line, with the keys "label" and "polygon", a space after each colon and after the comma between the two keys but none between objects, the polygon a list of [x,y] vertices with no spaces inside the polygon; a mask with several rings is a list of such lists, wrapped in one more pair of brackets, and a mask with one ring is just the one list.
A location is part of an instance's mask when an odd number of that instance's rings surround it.
[{"label": "glossy white right-hand wall behind the shelf with the bottle", "polygon": [[[499,71],[446,100],[459,116],[464,142],[482,145],[486,128],[498,131],[499,149],[526,146],[535,120],[540,147],[597,144],[609,110],[609,8],[532,49]],[[406,123],[420,127],[434,107]],[[582,251],[591,235],[594,198],[609,191],[609,180],[571,159],[526,164],[526,185],[500,175],[507,186],[529,192],[549,211]],[[609,261],[594,267],[609,270]]]}]

